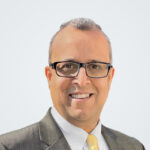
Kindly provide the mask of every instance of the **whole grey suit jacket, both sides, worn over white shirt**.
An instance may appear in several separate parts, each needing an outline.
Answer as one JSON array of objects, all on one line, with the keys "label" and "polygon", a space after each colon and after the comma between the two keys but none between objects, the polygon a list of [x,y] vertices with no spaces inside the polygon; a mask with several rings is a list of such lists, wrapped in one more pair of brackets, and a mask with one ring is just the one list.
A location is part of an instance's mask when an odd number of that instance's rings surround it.
[{"label": "whole grey suit jacket, both sides, worn over white shirt", "polygon": [[[135,138],[102,125],[110,150],[144,150]],[[50,109],[38,123],[0,136],[0,150],[71,150]]]}]

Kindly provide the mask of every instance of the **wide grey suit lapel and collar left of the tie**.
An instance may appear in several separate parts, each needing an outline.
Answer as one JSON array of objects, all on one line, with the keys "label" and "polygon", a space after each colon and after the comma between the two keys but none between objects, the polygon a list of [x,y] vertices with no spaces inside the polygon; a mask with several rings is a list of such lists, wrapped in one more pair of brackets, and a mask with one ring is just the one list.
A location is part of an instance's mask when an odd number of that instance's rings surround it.
[{"label": "wide grey suit lapel and collar left of the tie", "polygon": [[45,150],[71,150],[50,111],[39,123],[40,140],[47,144]]}]

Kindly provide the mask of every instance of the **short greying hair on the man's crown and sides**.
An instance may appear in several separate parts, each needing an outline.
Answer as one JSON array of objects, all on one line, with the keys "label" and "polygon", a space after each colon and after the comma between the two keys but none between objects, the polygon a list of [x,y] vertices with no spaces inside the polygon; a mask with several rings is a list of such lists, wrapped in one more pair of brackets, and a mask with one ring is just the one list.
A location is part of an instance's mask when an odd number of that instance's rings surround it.
[{"label": "short greying hair on the man's crown and sides", "polygon": [[93,30],[93,29],[98,29],[99,31],[101,31],[108,43],[109,43],[109,46],[110,46],[110,50],[109,50],[109,57],[110,57],[110,63],[112,63],[112,48],[111,48],[111,42],[108,38],[108,36],[102,31],[102,28],[100,27],[100,25],[96,24],[93,20],[89,19],[89,18],[76,18],[76,19],[72,19],[72,20],[69,20],[63,24],[60,25],[60,29],[53,35],[51,41],[50,41],[50,46],[49,46],[49,57],[48,57],[48,63],[50,63],[50,59],[51,59],[51,47],[52,47],[52,44],[53,44],[53,41],[55,40],[55,37],[57,36],[57,34],[62,30],[64,29],[65,27],[67,26],[73,26],[75,27],[76,29],[79,29],[79,30]]}]

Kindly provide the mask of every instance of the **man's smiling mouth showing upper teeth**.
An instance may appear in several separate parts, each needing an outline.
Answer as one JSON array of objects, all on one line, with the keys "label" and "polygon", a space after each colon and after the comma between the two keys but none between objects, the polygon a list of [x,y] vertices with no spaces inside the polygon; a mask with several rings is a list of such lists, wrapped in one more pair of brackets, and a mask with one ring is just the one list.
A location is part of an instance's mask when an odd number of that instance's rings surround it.
[{"label": "man's smiling mouth showing upper teeth", "polygon": [[93,95],[93,93],[73,93],[73,94],[69,94],[69,97],[71,99],[74,100],[87,100],[89,99],[91,96]]}]

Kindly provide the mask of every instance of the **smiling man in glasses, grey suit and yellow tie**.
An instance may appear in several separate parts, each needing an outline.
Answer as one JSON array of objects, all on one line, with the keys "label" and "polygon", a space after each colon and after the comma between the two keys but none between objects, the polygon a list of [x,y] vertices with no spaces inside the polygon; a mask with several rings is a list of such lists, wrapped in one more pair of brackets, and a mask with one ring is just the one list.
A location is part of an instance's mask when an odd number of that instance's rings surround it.
[{"label": "smiling man in glasses, grey suit and yellow tie", "polygon": [[109,39],[78,18],[63,24],[45,67],[54,107],[44,119],[0,137],[0,150],[144,150],[135,138],[101,124],[114,76]]}]

